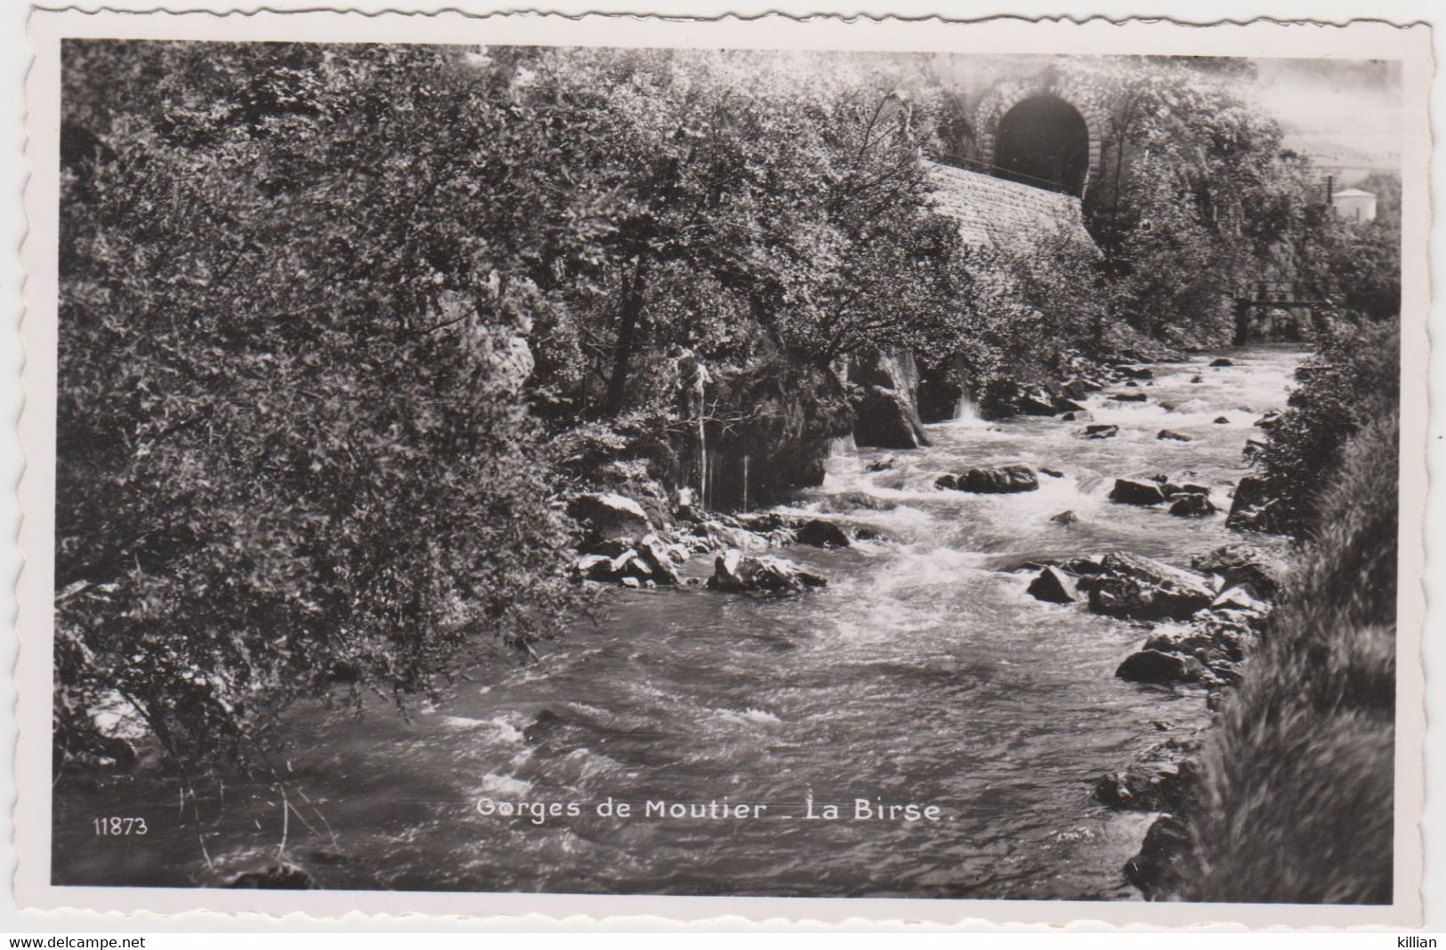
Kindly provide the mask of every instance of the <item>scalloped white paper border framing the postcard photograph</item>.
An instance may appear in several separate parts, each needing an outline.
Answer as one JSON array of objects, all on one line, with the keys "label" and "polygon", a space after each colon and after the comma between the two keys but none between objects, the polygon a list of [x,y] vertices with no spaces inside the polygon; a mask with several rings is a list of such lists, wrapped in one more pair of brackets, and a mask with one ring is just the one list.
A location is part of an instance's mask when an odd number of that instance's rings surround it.
[{"label": "scalloped white paper border framing the postcard photograph", "polygon": [[[655,0],[656,1],[656,0]],[[124,0],[120,0],[124,3]],[[278,4],[281,6],[298,6]],[[742,16],[710,16],[672,7],[668,19],[632,13],[593,16],[565,12],[508,13],[505,10],[460,13],[392,13],[377,4],[359,4],[364,14],[337,9],[282,12],[250,7],[244,16],[215,12],[123,12],[119,9],[36,10],[29,35],[35,61],[26,82],[27,146],[30,178],[26,187],[29,233],[25,240],[26,285],[29,304],[22,338],[25,343],[25,409],[19,434],[26,455],[20,482],[20,506],[26,518],[20,526],[20,551],[25,570],[16,589],[19,600],[17,632],[22,641],[14,667],[17,687],[19,740],[16,743],[17,791],[14,847],[19,865],[13,896],[20,907],[85,908],[90,911],[150,911],[184,914],[174,923],[202,924],[217,920],[188,911],[213,911],[241,915],[304,915],[309,921],[372,920],[376,923],[416,920],[414,915],[451,918],[506,915],[513,924],[519,915],[542,914],[551,921],[580,923],[619,917],[652,921],[723,923],[724,918],[759,921],[827,921],[862,924],[892,921],[898,924],[966,924],[992,930],[1011,925],[1145,925],[1189,927],[1236,924],[1245,927],[1284,925],[1291,928],[1342,927],[1413,927],[1421,921],[1421,834],[1423,803],[1421,750],[1424,736],[1424,677],[1419,664],[1423,589],[1401,584],[1403,658],[1398,688],[1397,745],[1397,895],[1384,908],[1368,907],[1296,907],[1296,905],[1186,905],[1186,904],[1113,904],[1067,901],[938,901],[938,899],[827,899],[827,898],[681,898],[681,896],[602,896],[602,895],[518,895],[518,894],[437,894],[437,892],[237,892],[214,889],[155,888],[55,888],[49,876],[49,701],[35,684],[51,682],[51,542],[54,531],[54,425],[55,425],[55,254],[56,244],[56,161],[58,150],[58,43],[62,36],[145,36],[168,39],[292,39],[292,40],[375,40],[375,42],[489,42],[538,45],[617,45],[617,46],[746,46],[813,49],[892,49],[892,51],[1021,51],[1089,54],[1210,54],[1238,56],[1339,56],[1398,58],[1404,62],[1407,127],[1403,143],[1403,182],[1406,215],[1406,281],[1403,294],[1407,314],[1420,320],[1406,324],[1403,338],[1403,519],[1401,575],[1421,577],[1421,515],[1426,500],[1426,320],[1427,291],[1426,240],[1430,230],[1427,165],[1430,133],[1426,93],[1432,82],[1430,35],[1423,26],[1398,27],[1377,20],[1358,20],[1332,26],[1309,20],[1303,12],[1278,19],[1255,17],[1215,26],[1189,23],[1199,17],[1189,10],[1186,19],[1105,19],[1095,14],[1038,17],[1043,12],[991,14],[972,22],[946,20],[927,10],[901,9],[905,17],[881,16],[768,16],[742,10]],[[392,4],[395,6],[395,4]],[[471,4],[476,6],[476,4]],[[600,4],[593,4],[600,6]],[[975,7],[977,9],[977,7]],[[967,10],[967,7],[964,9]],[[1364,14],[1379,16],[1381,6],[1362,4]],[[963,10],[960,10],[963,12]],[[1335,10],[1332,10],[1335,12]],[[1171,12],[1176,13],[1176,12]],[[1340,20],[1346,17],[1339,17]],[[1410,22],[1404,19],[1401,22]],[[1339,20],[1338,20],[1339,22]],[[1419,22],[1419,20],[1417,20]],[[1433,427],[1439,428],[1439,427]],[[1439,438],[1439,437],[1437,437]],[[1413,516],[1414,515],[1414,516]],[[26,685],[30,684],[30,685]],[[150,918],[150,914],[143,914]],[[662,918],[662,920],[659,920]],[[152,918],[155,920],[155,918]],[[224,920],[224,918],[223,918]],[[230,920],[239,920],[231,917]],[[254,920],[254,918],[253,918]],[[289,920],[296,920],[291,917]],[[139,923],[139,921],[137,921]],[[279,921],[276,921],[279,923]]]}]

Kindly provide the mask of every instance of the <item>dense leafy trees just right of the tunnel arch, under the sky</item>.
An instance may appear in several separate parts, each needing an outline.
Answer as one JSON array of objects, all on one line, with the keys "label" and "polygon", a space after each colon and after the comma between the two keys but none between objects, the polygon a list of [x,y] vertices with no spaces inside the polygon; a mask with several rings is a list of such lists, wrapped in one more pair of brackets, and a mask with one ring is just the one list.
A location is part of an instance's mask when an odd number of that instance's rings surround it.
[{"label": "dense leafy trees just right of the tunnel arch, under the sky", "polygon": [[1400,309],[1400,182],[1368,179],[1385,211],[1345,223],[1280,126],[1213,61],[1108,61],[1105,176],[1086,195],[1112,275],[1113,312],[1183,344],[1229,343],[1233,301],[1257,281],[1372,320]]}]

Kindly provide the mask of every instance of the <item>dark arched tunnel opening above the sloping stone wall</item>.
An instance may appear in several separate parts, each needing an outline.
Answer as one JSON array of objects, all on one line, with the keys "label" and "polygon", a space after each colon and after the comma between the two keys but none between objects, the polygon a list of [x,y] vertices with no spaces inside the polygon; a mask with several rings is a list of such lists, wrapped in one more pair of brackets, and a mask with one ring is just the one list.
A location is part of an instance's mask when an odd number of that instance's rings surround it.
[{"label": "dark arched tunnel opening above the sloping stone wall", "polygon": [[1054,95],[1024,100],[999,120],[999,178],[1079,195],[1089,168],[1089,129],[1073,106]]}]

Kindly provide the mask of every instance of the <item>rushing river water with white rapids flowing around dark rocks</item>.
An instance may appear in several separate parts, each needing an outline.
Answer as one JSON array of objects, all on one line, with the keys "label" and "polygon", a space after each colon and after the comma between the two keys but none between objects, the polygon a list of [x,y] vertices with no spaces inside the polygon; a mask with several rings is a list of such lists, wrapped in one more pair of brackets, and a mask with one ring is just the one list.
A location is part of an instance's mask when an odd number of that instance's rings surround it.
[{"label": "rushing river water with white rapids flowing around dark rocks", "polygon": [[[1080,422],[966,412],[928,427],[925,450],[842,448],[788,510],[878,539],[781,552],[826,574],[823,591],[609,590],[600,622],[542,662],[457,684],[409,720],[382,704],[360,720],[298,710],[285,787],[187,798],[172,785],[161,798],[137,781],[62,795],[55,879],[213,883],[272,860],[285,834],[286,857],[335,888],[1134,896],[1121,866],[1150,816],[1098,805],[1092,779],[1203,726],[1203,694],[1116,680],[1145,629],[1037,602],[1032,574],[1008,568],[1109,549],[1184,564],[1229,542],[1223,515],[1106,497],[1115,476],[1193,473],[1229,506],[1252,422],[1284,405],[1303,354],[1229,356],[1233,367],[1155,366],[1139,383],[1147,403],[1111,401],[1122,386],[1095,393],[1092,421],[1119,425],[1111,440],[1079,438]],[[1158,440],[1161,428],[1193,441]],[[995,463],[1063,476],[1022,495],[934,487],[944,471]],[[1079,522],[1053,523],[1061,510]],[[710,570],[710,557],[687,565]],[[633,816],[599,816],[609,798]],[[649,800],[724,798],[766,810],[643,814]],[[940,817],[856,818],[857,798]],[[840,817],[805,817],[810,801]],[[508,817],[502,803],[577,803],[580,814]],[[140,814],[149,830],[97,844],[94,814]]]}]

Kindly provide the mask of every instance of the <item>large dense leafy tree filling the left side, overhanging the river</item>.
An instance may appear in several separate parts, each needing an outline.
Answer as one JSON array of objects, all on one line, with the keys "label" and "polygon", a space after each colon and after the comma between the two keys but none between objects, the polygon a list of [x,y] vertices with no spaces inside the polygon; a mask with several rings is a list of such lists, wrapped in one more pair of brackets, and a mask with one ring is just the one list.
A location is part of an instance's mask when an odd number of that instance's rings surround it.
[{"label": "large dense leafy tree filling the left side, overhanging the river", "polygon": [[586,166],[457,52],[65,58],[58,745],[119,696],[178,762],[244,758],[298,696],[552,635],[521,388],[529,272],[602,227],[554,188]]}]

